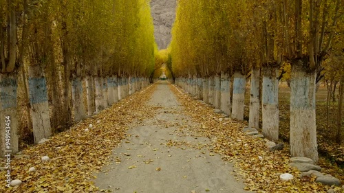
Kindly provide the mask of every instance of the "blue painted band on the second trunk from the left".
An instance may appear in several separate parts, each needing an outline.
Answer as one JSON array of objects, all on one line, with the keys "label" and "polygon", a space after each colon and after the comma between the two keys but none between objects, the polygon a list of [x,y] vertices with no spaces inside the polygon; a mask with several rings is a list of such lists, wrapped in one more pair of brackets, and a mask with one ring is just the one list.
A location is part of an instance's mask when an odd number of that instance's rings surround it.
[{"label": "blue painted band on the second trunk from the left", "polygon": [[30,103],[47,102],[47,82],[45,78],[29,78]]}]

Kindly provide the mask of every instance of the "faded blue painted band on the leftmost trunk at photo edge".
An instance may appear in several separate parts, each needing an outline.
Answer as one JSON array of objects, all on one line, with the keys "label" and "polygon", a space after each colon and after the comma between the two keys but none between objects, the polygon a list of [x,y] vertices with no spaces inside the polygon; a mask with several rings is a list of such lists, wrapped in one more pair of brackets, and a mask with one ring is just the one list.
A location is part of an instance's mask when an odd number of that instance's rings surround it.
[{"label": "faded blue painted band on the leftmost trunk at photo edge", "polygon": [[0,82],[1,109],[17,108],[18,82],[15,78],[3,78]]}]

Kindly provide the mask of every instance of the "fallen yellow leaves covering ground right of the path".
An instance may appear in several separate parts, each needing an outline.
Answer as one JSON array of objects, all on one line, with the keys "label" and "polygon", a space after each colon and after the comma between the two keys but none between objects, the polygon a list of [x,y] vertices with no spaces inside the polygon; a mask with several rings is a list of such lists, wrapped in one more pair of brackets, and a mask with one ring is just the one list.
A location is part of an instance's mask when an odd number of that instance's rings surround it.
[{"label": "fallen yellow leaves covering ground right of the path", "polygon": [[[300,177],[300,172],[290,168],[289,148],[270,152],[264,139],[245,135],[241,130],[244,122],[231,120],[214,112],[212,106],[191,97],[182,89],[170,85],[171,90],[184,107],[184,113],[201,126],[191,128],[211,139],[210,150],[222,156],[224,161],[233,162],[239,169],[245,190],[254,192],[327,192],[329,185],[316,183],[314,177]],[[219,121],[220,120],[220,121]],[[181,127],[182,128],[182,127]],[[183,129],[183,128],[182,128]],[[181,145],[174,141],[169,145]],[[185,144],[182,144],[185,145]],[[326,168],[326,170],[330,170]],[[294,179],[282,181],[280,174],[290,173]],[[333,173],[332,173],[333,174]],[[335,175],[338,177],[338,175]],[[340,188],[334,188],[339,190]]]}]

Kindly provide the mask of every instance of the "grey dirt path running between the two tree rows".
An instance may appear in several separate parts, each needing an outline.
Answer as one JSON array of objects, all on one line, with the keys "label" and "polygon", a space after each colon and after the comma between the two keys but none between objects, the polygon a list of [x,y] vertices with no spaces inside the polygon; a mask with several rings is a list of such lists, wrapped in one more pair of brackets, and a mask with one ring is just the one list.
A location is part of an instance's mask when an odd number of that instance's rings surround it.
[{"label": "grey dirt path running between the two tree rows", "polygon": [[147,105],[156,106],[155,117],[129,129],[113,150],[114,161],[97,174],[96,186],[124,193],[246,192],[231,174],[231,163],[209,152],[209,140],[189,130],[197,123],[183,115],[166,82],[158,82]]}]

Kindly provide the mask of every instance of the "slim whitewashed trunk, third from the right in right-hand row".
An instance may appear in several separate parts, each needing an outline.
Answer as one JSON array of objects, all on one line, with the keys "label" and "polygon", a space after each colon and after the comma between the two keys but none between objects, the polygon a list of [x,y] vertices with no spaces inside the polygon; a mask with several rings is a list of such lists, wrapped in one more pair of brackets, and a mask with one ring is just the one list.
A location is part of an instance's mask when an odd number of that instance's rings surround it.
[{"label": "slim whitewashed trunk, third from the right in right-hand row", "polygon": [[251,88],[250,88],[250,116],[248,126],[250,128],[259,128],[259,69],[252,69]]}]

